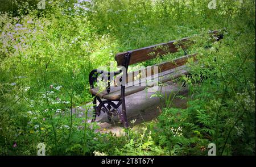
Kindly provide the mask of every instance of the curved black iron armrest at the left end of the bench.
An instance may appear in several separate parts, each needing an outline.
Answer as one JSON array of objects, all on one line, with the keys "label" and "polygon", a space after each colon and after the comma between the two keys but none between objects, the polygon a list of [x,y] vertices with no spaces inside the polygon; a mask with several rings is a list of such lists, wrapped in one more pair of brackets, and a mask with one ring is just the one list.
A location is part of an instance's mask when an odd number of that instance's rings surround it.
[{"label": "curved black iron armrest at the left end of the bench", "polygon": [[[121,74],[122,70],[118,70],[115,72],[106,72],[104,70],[98,70],[98,69],[94,69],[90,72],[89,74],[89,83],[90,83],[90,88],[93,89],[93,83],[97,82],[97,78],[99,74],[103,74],[103,75],[107,75],[108,76],[108,86],[106,87],[106,91],[108,91],[108,93],[110,92],[110,81],[112,80],[112,78],[114,76],[117,76],[118,74]],[[110,78],[111,77],[111,78]],[[104,77],[106,78],[106,77]],[[102,78],[103,80],[103,78]]]}]

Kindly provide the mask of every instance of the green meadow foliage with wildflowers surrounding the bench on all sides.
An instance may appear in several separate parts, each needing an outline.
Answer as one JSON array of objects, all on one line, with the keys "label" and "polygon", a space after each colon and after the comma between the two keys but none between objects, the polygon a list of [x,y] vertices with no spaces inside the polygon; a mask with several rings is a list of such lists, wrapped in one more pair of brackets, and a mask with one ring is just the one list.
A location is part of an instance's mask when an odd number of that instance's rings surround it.
[{"label": "green meadow foliage with wildflowers surrounding the bench on all sides", "polygon": [[[215,10],[201,0],[46,1],[44,10],[19,2],[0,5],[0,155],[36,155],[38,143],[47,155],[207,155],[209,143],[217,155],[255,155],[255,1],[217,1]],[[224,39],[213,43],[209,30]],[[79,116],[92,100],[92,69],[116,68],[117,52],[195,34],[187,52],[199,63],[177,80],[189,87],[188,108],[157,93],[167,103],[158,120],[122,137]]]}]

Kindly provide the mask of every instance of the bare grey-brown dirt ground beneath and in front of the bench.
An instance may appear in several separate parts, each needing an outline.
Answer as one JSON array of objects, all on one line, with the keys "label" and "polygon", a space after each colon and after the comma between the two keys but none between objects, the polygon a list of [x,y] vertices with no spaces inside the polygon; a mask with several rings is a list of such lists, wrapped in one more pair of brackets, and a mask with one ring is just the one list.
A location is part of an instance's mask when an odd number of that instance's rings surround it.
[{"label": "bare grey-brown dirt ground beneath and in front of the bench", "polygon": [[[165,104],[159,97],[151,97],[152,94],[155,93],[140,91],[126,97],[127,119],[129,122],[135,120],[133,128],[143,126],[142,123],[154,120],[160,114],[159,109]],[[166,97],[171,95],[171,98],[174,98],[175,95],[187,96],[187,88],[168,82],[166,86],[162,87],[162,94]],[[187,100],[176,97],[172,101],[172,107],[186,108]],[[89,110],[89,116],[92,115],[92,111],[93,110]],[[113,132],[117,136],[120,136],[123,133],[123,124],[119,123],[118,116],[114,116],[110,122],[108,120],[108,115],[101,112],[101,115],[96,118],[96,122],[98,126],[101,127],[98,130],[100,132]]]}]

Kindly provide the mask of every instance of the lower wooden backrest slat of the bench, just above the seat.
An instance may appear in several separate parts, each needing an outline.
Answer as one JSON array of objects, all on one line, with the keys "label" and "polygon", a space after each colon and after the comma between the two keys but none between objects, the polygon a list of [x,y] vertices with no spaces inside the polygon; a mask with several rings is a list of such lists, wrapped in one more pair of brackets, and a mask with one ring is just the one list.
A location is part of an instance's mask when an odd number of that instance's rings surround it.
[{"label": "lower wooden backrest slat of the bench, just above the seat", "polygon": [[[188,62],[188,59],[193,58],[193,61],[196,61],[196,55],[197,54],[179,57],[175,60],[168,61],[168,62],[163,62],[161,64],[156,64],[154,66],[158,66],[158,72],[157,73],[162,73],[166,70],[174,69],[178,66],[186,64]],[[134,72],[127,73],[126,83],[138,80],[138,78],[136,78],[138,76],[138,74],[140,74],[139,79],[150,77],[150,76],[156,74],[156,73],[153,73],[154,72],[154,69],[153,69],[154,66],[150,66],[149,68],[144,68],[144,69],[141,69],[141,70],[137,70],[137,71],[134,71]],[[150,70],[150,72],[147,72],[147,70]],[[121,77],[122,76],[117,76],[117,78],[115,78],[115,81],[119,81]]]}]

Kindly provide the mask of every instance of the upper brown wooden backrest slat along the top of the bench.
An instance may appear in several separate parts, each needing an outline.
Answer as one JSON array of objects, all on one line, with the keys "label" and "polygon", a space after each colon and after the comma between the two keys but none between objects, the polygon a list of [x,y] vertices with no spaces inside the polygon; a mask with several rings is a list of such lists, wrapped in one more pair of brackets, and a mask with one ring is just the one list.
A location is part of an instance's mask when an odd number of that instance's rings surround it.
[{"label": "upper brown wooden backrest slat along the top of the bench", "polygon": [[[131,52],[131,58],[129,65],[135,64],[137,62],[143,62],[146,60],[154,59],[158,54],[159,55],[164,55],[167,53],[175,53],[178,51],[178,48],[184,48],[183,44],[185,41],[188,41],[188,37],[185,37],[181,40],[172,40],[168,43],[162,43],[162,44],[157,44],[157,45],[152,45],[150,47],[144,47],[141,49],[135,49]],[[174,43],[179,43],[175,45]],[[122,65],[123,64],[123,57],[127,52],[123,53],[118,53],[115,55],[115,60],[117,61],[117,65]]]}]

